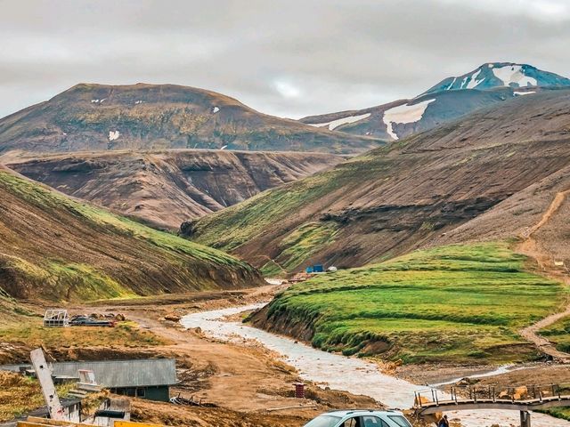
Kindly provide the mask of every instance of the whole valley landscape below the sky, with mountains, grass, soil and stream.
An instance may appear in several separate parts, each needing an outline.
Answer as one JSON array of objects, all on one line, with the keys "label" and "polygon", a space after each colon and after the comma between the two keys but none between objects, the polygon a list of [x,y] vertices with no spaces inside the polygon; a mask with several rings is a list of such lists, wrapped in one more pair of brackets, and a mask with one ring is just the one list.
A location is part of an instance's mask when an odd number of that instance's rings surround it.
[{"label": "whole valley landscape below the sky, with mountains, grass, soil and stream", "polygon": [[[299,121],[188,86],[80,84],[4,117],[0,362],[174,358],[171,397],[211,405],[131,399],[165,425],[301,426],[409,410],[425,383],[514,399],[568,382],[569,84],[487,63]],[[53,306],[120,316],[46,328]],[[18,411],[0,401],[2,421]],[[550,414],[533,425],[567,425]]]}]

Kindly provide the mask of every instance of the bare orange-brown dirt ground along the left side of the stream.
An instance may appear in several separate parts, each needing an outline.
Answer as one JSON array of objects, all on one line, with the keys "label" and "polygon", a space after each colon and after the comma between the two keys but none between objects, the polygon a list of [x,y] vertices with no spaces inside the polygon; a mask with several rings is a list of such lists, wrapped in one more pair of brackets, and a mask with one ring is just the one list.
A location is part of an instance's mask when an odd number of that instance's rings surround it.
[{"label": "bare orange-brown dirt ground along the left side of the stream", "polygon": [[[167,425],[300,426],[333,408],[379,407],[374,399],[344,391],[322,390],[307,384],[306,399],[295,399],[294,383],[300,381],[294,368],[281,362],[259,344],[220,342],[199,331],[185,330],[176,321],[196,310],[268,301],[281,286],[263,286],[240,292],[161,296],[119,305],[77,307],[78,311],[124,313],[140,327],[172,342],[147,349],[154,357],[175,357],[181,383],[171,390],[216,407],[179,407],[134,400],[134,418]],[[211,298],[211,297],[214,298]],[[165,320],[172,318],[173,320]],[[125,353],[132,349],[124,349]],[[100,355],[101,356],[101,355]],[[285,408],[285,409],[281,409]],[[217,420],[216,423],[214,420]]]}]

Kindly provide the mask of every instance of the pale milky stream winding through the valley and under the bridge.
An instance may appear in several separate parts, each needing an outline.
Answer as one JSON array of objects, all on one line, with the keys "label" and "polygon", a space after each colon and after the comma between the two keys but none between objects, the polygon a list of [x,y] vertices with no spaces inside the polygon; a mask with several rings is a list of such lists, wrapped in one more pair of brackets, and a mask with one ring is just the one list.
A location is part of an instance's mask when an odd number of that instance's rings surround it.
[{"label": "pale milky stream winding through the valley and under the bridge", "polygon": [[[284,362],[297,368],[307,380],[331,389],[350,391],[379,400],[387,407],[409,408],[413,405],[414,391],[425,390],[392,375],[382,374],[379,368],[365,359],[349,358],[340,354],[314,349],[287,337],[271,334],[262,329],[227,321],[225,318],[242,311],[256,310],[265,304],[252,304],[223,310],[191,313],[182,318],[186,328],[200,327],[204,334],[225,341],[256,340],[269,350],[279,353]],[[501,373],[502,368],[497,370]],[[520,425],[518,411],[476,410],[448,413],[451,420],[460,419],[465,427],[501,427]],[[533,413],[533,427],[570,427],[570,423],[549,415]]]}]

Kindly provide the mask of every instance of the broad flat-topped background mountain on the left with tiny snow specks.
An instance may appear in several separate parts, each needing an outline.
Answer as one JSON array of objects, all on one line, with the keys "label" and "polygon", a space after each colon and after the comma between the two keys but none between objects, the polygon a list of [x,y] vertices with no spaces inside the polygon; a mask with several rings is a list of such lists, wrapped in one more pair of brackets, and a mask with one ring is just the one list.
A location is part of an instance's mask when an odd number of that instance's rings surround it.
[{"label": "broad flat-topped background mountain on the left with tiny snow specks", "polygon": [[220,93],[178,85],[81,84],[0,119],[0,152],[226,147],[354,153],[381,144],[266,116]]}]

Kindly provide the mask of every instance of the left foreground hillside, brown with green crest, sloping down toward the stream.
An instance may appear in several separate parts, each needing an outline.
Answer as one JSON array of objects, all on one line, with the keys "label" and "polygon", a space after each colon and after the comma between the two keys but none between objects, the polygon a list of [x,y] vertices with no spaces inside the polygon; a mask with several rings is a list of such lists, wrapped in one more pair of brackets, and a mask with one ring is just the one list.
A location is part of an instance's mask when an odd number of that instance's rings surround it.
[{"label": "left foreground hillside, brown with green crest, sloping down toward the stream", "polygon": [[0,294],[77,301],[260,284],[251,266],[0,169]]}]

